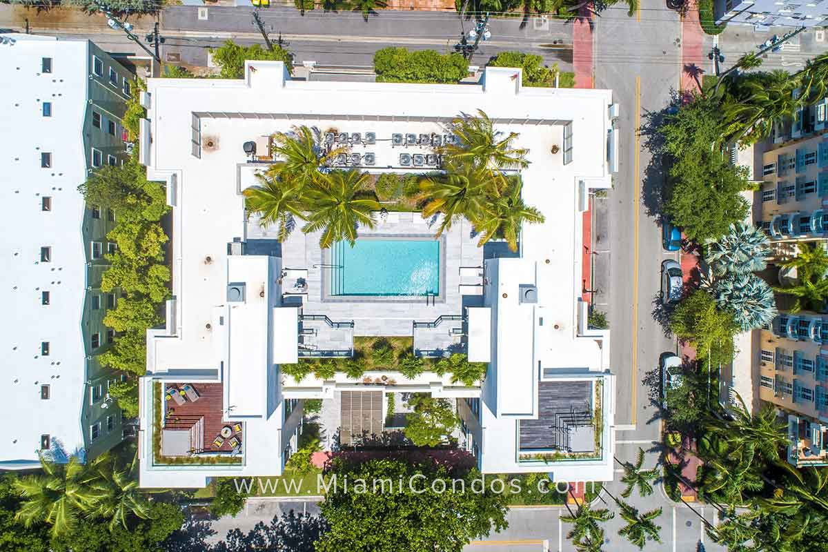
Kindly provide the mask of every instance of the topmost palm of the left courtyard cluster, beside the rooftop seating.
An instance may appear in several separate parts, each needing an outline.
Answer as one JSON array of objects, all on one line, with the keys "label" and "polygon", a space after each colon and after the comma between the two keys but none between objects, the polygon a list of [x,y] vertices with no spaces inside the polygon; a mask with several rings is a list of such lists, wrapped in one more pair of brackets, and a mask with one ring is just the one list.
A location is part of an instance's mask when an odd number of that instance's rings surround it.
[{"label": "topmost palm of the left courtyard cluster, beside the rooftop seating", "polygon": [[294,176],[296,184],[300,186],[324,183],[323,174],[331,161],[340,153],[347,152],[348,148],[339,146],[325,153],[318,128],[304,125],[292,128],[292,132],[276,132],[272,135],[273,154],[282,161],[277,166],[278,170]]}]

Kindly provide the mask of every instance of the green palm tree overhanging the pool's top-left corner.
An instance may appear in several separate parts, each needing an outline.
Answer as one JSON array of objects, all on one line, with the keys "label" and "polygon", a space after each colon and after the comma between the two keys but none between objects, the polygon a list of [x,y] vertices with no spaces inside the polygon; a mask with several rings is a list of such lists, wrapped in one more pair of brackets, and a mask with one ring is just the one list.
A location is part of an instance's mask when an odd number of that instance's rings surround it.
[{"label": "green palm tree overhanging the pool's top-left corner", "polygon": [[323,249],[339,240],[346,240],[354,247],[357,227],[362,224],[373,228],[373,211],[379,209],[376,199],[360,197],[368,178],[368,173],[358,170],[334,170],[325,175],[319,189],[307,192],[314,210],[307,215],[302,232],[323,230],[319,240]]}]

